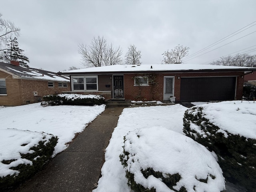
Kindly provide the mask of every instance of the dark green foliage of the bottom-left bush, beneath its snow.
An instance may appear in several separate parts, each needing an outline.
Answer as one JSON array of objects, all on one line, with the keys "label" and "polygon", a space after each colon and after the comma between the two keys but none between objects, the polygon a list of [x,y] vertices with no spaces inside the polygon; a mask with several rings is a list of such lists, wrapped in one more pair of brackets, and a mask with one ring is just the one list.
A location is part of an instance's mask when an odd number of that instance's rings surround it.
[{"label": "dark green foliage of the bottom-left bush, beneath its snow", "polygon": [[[21,130],[18,131],[21,132]],[[45,135],[47,135],[47,138]],[[38,142],[38,144],[36,144],[36,146],[32,146],[27,153],[20,153],[19,159],[2,160],[1,163],[3,166],[7,166],[10,170],[15,171],[12,172],[12,174],[0,176],[0,190],[6,190],[11,186],[18,186],[18,184],[24,182],[26,179],[30,178],[36,172],[41,170],[43,166],[52,158],[54,147],[56,146],[57,142],[58,138],[56,136],[43,133],[42,139]],[[26,145],[29,144],[25,143],[21,146],[26,147]],[[15,154],[14,156],[14,158],[17,158]],[[13,163],[15,166],[12,166],[11,163]]]}]

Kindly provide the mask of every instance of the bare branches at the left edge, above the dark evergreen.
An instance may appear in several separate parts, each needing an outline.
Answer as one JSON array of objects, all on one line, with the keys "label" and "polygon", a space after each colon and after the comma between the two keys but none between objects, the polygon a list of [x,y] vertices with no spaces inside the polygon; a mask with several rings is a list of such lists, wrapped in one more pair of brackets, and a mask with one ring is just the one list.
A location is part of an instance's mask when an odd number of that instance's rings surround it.
[{"label": "bare branches at the left edge, above the dark evergreen", "polygon": [[8,39],[11,38],[12,35],[20,35],[20,28],[16,27],[13,22],[4,20],[1,17],[2,14],[0,13],[0,51],[6,50],[5,48],[2,48],[2,44],[7,44]]}]

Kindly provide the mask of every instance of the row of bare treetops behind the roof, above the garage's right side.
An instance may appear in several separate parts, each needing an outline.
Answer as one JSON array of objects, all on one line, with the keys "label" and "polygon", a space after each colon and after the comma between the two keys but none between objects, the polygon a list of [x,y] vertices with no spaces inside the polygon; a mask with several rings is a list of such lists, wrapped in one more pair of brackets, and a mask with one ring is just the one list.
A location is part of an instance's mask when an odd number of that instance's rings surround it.
[{"label": "row of bare treetops behind the roof, above the garage's right side", "polygon": [[212,65],[225,65],[225,66],[253,66],[256,63],[256,55],[237,54],[235,56],[221,57],[213,61]]}]

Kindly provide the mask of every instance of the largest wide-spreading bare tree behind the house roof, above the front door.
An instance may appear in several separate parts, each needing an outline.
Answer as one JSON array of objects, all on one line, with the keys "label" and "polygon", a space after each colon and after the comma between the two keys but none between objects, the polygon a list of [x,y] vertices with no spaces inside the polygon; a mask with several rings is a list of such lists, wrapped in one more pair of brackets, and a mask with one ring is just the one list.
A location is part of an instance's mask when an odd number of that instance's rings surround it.
[{"label": "largest wide-spreading bare tree behind the house roof, above the front door", "polygon": [[103,36],[94,37],[90,46],[80,44],[78,52],[82,55],[82,64],[86,67],[108,66],[122,62],[121,48],[108,45]]}]

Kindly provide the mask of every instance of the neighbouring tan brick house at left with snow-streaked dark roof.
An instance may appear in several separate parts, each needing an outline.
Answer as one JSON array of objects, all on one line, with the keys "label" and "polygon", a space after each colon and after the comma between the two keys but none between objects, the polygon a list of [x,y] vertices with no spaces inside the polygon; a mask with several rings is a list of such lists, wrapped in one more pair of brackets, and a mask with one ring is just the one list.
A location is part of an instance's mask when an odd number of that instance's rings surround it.
[{"label": "neighbouring tan brick house at left with snow-streaked dark roof", "polygon": [[0,61],[0,106],[40,102],[42,96],[70,90],[68,76]]}]

